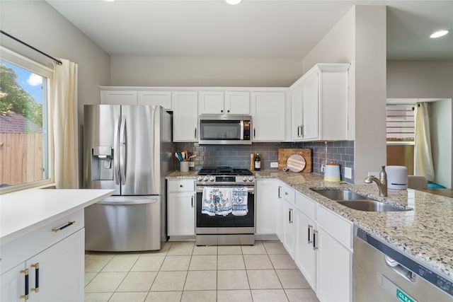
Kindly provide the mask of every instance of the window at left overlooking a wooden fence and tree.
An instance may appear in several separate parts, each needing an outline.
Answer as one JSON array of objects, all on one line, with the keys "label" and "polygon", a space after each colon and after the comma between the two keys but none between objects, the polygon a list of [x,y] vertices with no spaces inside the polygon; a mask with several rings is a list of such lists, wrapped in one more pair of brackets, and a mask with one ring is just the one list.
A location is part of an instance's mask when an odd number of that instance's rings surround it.
[{"label": "window at left overlooking a wooden fence and tree", "polygon": [[52,70],[0,51],[0,187],[8,192],[51,182],[47,105]]}]

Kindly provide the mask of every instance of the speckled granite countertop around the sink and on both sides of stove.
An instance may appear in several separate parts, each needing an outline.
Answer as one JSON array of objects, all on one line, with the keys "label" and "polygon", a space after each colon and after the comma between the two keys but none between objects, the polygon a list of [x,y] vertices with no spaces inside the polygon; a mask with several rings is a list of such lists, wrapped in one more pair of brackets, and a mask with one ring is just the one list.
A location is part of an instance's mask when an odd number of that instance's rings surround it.
[{"label": "speckled granite countertop around the sink and on both sides of stove", "polygon": [[[348,182],[324,182],[322,175],[292,173],[280,170],[255,171],[260,179],[277,179],[298,192],[352,221],[372,236],[453,281],[453,198],[418,190],[391,190],[388,197],[379,197],[377,185],[353,185]],[[197,171],[173,172],[167,179],[195,179]],[[350,209],[310,188],[347,187],[411,211],[372,212]]]}]

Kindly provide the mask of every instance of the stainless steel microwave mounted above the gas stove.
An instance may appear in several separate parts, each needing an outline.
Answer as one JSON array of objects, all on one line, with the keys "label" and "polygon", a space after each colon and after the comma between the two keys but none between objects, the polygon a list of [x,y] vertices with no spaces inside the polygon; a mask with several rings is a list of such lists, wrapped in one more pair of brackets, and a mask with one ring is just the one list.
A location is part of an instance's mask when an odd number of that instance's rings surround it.
[{"label": "stainless steel microwave mounted above the gas stove", "polygon": [[251,115],[200,115],[200,144],[251,144]]}]

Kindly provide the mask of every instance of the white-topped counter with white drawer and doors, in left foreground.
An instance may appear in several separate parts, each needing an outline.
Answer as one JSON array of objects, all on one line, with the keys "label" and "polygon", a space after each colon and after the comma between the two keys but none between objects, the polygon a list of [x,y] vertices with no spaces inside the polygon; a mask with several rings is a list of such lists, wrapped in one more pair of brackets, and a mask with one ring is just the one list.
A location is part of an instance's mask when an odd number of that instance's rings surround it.
[{"label": "white-topped counter with white drawer and doors, in left foreground", "polygon": [[0,300],[39,294],[41,301],[83,301],[84,209],[113,192],[30,189],[1,195]]}]

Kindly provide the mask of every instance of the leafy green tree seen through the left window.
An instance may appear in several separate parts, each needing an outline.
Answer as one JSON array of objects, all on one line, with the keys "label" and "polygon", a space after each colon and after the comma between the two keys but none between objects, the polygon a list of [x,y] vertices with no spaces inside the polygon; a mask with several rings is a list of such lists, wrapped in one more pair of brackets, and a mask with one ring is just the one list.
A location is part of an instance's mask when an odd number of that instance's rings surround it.
[{"label": "leafy green tree seen through the left window", "polygon": [[16,81],[13,69],[0,64],[0,113],[16,112],[42,127],[42,104],[25,91]]}]

